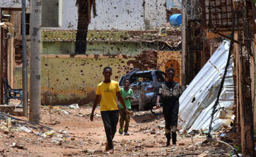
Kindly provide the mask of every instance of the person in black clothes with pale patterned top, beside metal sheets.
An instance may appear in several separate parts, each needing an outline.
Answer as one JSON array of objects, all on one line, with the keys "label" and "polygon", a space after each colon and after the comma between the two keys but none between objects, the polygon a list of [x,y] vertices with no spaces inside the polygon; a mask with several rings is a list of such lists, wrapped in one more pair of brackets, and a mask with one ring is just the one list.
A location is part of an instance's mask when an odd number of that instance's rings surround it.
[{"label": "person in black clothes with pale patterned top, beside metal sheets", "polygon": [[[169,67],[167,69],[168,81],[163,83],[159,88],[159,96],[157,96],[156,107],[160,108],[159,100],[162,96],[163,117],[165,119],[165,136],[167,137],[167,147],[170,146],[172,137],[173,146],[176,146],[176,128],[178,124],[179,98],[181,96],[181,85],[173,80],[175,69]],[[172,132],[172,134],[171,134]]]}]

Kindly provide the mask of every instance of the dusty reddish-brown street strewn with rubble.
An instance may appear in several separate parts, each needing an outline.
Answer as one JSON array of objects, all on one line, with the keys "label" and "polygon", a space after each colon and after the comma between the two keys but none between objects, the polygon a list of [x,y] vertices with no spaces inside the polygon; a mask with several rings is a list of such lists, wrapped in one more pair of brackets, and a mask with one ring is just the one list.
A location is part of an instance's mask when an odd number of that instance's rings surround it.
[{"label": "dusty reddish-brown street strewn with rubble", "polygon": [[[62,110],[70,114],[65,114]],[[198,156],[201,153],[200,156],[223,156],[232,152],[230,148],[218,143],[202,145],[206,139],[204,134],[178,134],[176,147],[163,147],[166,144],[163,117],[155,117],[150,111],[134,111],[135,115],[131,117],[129,128],[131,135],[124,136],[117,132],[114,138],[115,151],[110,155],[104,151],[106,137],[99,107],[96,109],[93,122],[89,121],[91,105],[80,107],[80,109],[60,107],[60,109],[51,109],[51,113],[47,106],[41,107],[41,124],[57,131],[51,136],[37,136],[33,134],[36,130],[27,133],[25,131],[4,132],[0,129],[1,155],[188,156],[186,154],[193,153],[197,155],[192,156]],[[27,120],[25,117],[22,119]],[[18,141],[25,147],[12,146]]]}]

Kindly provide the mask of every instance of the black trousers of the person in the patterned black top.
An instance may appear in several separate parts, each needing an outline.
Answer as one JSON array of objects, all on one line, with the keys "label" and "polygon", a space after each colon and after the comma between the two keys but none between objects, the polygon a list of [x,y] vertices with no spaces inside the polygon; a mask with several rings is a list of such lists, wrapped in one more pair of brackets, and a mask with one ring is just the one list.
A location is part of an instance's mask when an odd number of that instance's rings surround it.
[{"label": "black trousers of the person in the patterned black top", "polygon": [[171,115],[164,114],[163,117],[165,118],[165,136],[167,138],[167,141],[172,140],[173,144],[176,144],[176,126],[173,124],[173,121],[171,120]]}]

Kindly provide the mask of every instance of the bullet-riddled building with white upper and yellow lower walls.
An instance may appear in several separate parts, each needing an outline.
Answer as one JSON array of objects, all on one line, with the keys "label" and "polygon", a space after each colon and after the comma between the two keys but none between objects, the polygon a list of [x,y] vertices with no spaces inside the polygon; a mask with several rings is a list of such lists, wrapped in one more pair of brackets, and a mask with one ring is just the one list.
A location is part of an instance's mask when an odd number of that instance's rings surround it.
[{"label": "bullet-riddled building with white upper and yellow lower walls", "polygon": [[[112,79],[117,81],[134,68],[165,72],[167,67],[173,66],[177,73],[176,80],[181,83],[181,27],[168,23],[172,14],[181,13],[176,1],[96,1],[97,15],[94,15],[92,8],[91,23],[86,34],[78,30],[75,0],[43,1],[41,5],[41,104],[49,105],[50,97],[51,105],[92,102],[105,66],[113,68]],[[27,6],[29,61],[29,2]],[[4,14],[10,17],[4,22],[13,23],[15,28],[13,82],[15,88],[22,88],[22,14],[19,9],[10,8],[4,10]],[[79,41],[77,36],[80,36]],[[80,47],[86,47],[86,54],[76,53],[78,43]],[[28,74],[29,69],[28,62]]]}]

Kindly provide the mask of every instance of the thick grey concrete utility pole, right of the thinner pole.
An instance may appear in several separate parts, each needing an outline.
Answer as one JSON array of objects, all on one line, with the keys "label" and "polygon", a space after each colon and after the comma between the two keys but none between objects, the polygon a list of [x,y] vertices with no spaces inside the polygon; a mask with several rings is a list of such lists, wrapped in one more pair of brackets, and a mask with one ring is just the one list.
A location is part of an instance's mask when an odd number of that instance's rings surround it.
[{"label": "thick grey concrete utility pole, right of the thinner pole", "polygon": [[41,0],[31,0],[30,121],[41,117]]}]

